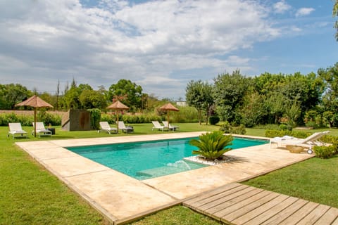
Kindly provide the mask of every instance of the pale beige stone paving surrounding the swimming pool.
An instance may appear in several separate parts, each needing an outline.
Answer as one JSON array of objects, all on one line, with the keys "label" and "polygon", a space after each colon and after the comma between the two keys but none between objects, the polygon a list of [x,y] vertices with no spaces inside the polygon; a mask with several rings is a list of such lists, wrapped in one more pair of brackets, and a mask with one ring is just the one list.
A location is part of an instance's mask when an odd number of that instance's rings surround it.
[{"label": "pale beige stone paving surrounding the swimming pool", "polygon": [[16,145],[79,193],[114,224],[143,217],[151,212],[180,204],[185,198],[193,195],[266,174],[314,156],[289,153],[280,148],[270,149],[269,144],[263,144],[226,153],[236,159],[231,162],[138,181],[64,148],[177,139],[199,136],[202,133],[204,132],[27,141],[18,142]]}]

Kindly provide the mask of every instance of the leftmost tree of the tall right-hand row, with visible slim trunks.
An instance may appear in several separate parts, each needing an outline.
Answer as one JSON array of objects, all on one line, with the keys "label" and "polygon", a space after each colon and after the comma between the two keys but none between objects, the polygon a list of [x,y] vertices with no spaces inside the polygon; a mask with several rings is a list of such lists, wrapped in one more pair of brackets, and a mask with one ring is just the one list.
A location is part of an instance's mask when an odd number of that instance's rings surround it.
[{"label": "leftmost tree of the tall right-hand row, with visible slim trunks", "polygon": [[185,89],[187,104],[196,108],[199,115],[199,124],[201,124],[203,112],[206,113],[206,124],[208,124],[208,112],[213,105],[212,89],[213,87],[208,82],[204,83],[201,80],[190,81]]}]

